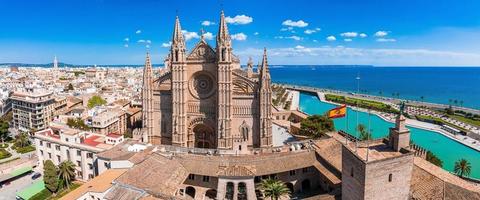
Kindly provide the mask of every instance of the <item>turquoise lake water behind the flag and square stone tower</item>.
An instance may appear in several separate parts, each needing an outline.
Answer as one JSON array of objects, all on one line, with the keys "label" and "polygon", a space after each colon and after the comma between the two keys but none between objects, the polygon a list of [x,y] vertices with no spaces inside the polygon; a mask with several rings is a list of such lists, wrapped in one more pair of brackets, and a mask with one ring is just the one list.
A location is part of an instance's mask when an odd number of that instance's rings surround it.
[{"label": "turquoise lake water behind the flag and square stone tower", "polygon": [[[300,93],[300,110],[308,114],[324,114],[327,110],[334,108],[335,105],[321,102],[316,95],[309,93]],[[348,109],[348,133],[355,134],[355,125],[357,121],[357,112]],[[368,128],[369,114],[358,112],[358,121]],[[345,130],[347,118],[334,119],[337,130]],[[390,127],[394,124],[384,121],[376,115],[370,115],[370,126],[374,138],[382,138],[388,135]],[[443,168],[453,171],[455,161],[465,158],[472,165],[471,177],[480,179],[480,152],[458,143],[440,133],[427,131],[423,129],[408,127],[411,132],[413,142],[431,152],[443,161]]]}]

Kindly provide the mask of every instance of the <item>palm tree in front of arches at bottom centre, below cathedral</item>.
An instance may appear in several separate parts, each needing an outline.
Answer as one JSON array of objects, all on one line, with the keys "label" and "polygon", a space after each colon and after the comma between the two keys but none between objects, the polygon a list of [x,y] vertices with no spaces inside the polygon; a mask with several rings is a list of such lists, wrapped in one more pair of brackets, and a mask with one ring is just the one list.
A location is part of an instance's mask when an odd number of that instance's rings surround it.
[{"label": "palm tree in front of arches at bottom centre, below cathedral", "polygon": [[290,190],[280,180],[276,179],[263,179],[262,182],[258,184],[259,190],[263,193],[266,198],[271,200],[278,200],[281,197],[290,196]]}]

